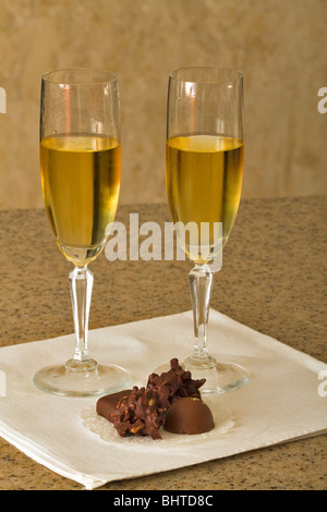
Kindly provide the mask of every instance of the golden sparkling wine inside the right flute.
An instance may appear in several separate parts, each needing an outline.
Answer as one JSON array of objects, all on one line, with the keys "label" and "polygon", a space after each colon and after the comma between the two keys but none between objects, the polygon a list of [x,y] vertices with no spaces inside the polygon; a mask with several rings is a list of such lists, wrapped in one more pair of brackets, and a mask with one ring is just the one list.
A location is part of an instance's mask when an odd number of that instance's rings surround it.
[{"label": "golden sparkling wine inside the right flute", "polygon": [[[195,222],[198,237],[185,242],[187,256],[207,263],[226,244],[241,197],[243,143],[218,135],[177,136],[167,142],[166,184],[173,222]],[[208,222],[206,247],[201,244],[201,222]],[[222,222],[222,240],[214,222]]]}]

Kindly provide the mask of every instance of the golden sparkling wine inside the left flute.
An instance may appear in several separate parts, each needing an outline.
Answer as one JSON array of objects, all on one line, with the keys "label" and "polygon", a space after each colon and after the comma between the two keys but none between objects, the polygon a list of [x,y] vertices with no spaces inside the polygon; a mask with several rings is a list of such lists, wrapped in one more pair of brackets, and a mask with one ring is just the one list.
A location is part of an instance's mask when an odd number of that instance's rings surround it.
[{"label": "golden sparkling wine inside the left flute", "polygon": [[46,209],[60,251],[75,265],[88,264],[104,248],[106,227],[113,222],[118,206],[120,160],[120,144],[108,136],[41,141]]}]

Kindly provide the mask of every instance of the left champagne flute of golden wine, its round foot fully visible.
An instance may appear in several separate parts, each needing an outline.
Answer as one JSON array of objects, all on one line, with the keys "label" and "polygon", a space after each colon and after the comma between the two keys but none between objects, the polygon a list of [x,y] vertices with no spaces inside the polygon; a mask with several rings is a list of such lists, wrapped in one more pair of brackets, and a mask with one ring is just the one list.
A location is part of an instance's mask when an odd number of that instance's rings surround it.
[{"label": "left champagne flute of golden wine, its round foot fully visible", "polygon": [[74,265],[69,279],[75,351],[62,365],[43,368],[35,385],[47,392],[89,397],[130,382],[117,365],[88,354],[93,273],[87,266],[105,247],[118,206],[121,171],[120,103],[114,73],[58,70],[41,78],[40,168],[45,207],[59,249]]}]

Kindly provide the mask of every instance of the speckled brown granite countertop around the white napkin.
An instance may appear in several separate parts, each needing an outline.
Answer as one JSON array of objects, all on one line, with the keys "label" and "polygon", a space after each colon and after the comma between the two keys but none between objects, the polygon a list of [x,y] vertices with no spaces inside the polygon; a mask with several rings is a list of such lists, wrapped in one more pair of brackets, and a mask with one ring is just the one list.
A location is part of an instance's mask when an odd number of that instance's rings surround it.
[{"label": "speckled brown granite countertop around the white napkin", "polygon": [[[211,300],[219,312],[323,362],[326,205],[324,197],[242,200]],[[140,224],[170,221],[161,204],[120,206],[117,220],[128,223],[136,211]],[[71,264],[45,211],[0,211],[0,346],[72,332]],[[109,263],[101,254],[90,269],[90,329],[191,309],[189,261]],[[326,489],[326,467],[324,435],[100,489]],[[0,489],[81,488],[0,439]]]}]

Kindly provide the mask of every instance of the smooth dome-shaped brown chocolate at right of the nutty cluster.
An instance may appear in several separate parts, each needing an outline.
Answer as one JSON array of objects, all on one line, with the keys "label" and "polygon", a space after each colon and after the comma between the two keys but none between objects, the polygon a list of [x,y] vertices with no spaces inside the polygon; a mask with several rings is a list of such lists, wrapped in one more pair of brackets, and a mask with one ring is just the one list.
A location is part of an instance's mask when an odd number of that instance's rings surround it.
[{"label": "smooth dome-shaped brown chocolate at right of the nutty cluster", "polygon": [[199,399],[177,400],[167,411],[164,427],[173,434],[203,434],[215,427],[209,407]]}]

